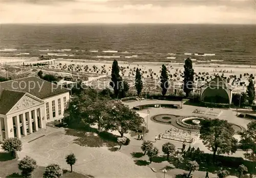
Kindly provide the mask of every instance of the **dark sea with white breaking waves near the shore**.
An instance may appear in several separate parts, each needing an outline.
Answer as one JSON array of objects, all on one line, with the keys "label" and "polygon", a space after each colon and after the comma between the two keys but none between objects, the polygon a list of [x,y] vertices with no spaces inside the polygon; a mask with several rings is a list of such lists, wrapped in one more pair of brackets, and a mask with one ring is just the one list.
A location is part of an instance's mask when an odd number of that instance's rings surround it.
[{"label": "dark sea with white breaking waves near the shore", "polygon": [[1,24],[0,57],[256,65],[256,26]]}]

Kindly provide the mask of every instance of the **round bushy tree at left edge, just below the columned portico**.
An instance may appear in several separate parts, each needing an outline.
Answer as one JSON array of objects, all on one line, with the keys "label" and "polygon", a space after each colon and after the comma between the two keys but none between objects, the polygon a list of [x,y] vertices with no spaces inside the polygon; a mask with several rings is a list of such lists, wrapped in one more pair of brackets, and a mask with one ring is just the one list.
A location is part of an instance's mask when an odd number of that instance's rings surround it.
[{"label": "round bushy tree at left edge, just below the columned portico", "polygon": [[22,150],[22,141],[18,138],[9,138],[4,141],[2,148],[8,151],[14,158],[16,157],[16,152]]}]

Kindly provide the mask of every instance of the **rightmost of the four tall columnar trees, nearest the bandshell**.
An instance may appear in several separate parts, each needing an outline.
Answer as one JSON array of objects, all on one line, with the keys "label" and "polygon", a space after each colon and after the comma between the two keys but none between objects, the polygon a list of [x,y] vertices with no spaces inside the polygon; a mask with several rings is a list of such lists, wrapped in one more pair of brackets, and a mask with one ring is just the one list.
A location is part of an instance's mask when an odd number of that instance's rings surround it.
[{"label": "rightmost of the four tall columnar trees, nearest the bandshell", "polygon": [[188,97],[188,94],[193,90],[194,83],[194,69],[190,58],[185,60],[183,82],[183,90],[186,93],[186,97]]}]

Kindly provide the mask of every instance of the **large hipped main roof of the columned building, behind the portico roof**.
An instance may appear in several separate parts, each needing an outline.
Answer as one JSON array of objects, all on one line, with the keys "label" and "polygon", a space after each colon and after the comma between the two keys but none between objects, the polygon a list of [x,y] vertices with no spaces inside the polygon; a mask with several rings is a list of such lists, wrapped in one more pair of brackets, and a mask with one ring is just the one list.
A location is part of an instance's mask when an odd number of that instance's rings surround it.
[{"label": "large hipped main roof of the columned building, behind the portico roof", "polygon": [[40,99],[44,99],[50,96],[54,96],[57,94],[66,93],[70,91],[65,87],[53,84],[51,82],[42,80],[34,76],[1,82],[0,88],[6,89],[6,90],[27,92]]}]

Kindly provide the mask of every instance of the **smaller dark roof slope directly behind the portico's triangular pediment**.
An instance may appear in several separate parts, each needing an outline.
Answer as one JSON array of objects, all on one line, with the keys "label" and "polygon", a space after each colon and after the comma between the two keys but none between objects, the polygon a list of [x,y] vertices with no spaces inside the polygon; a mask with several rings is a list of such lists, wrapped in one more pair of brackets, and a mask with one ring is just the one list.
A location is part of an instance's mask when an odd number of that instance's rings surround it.
[{"label": "smaller dark roof slope directly behind the portico's triangular pediment", "polygon": [[0,114],[8,113],[26,92],[3,90],[0,95]]}]

